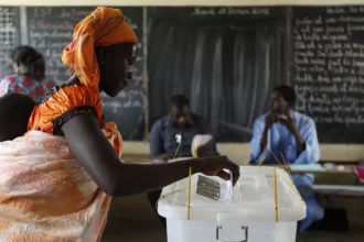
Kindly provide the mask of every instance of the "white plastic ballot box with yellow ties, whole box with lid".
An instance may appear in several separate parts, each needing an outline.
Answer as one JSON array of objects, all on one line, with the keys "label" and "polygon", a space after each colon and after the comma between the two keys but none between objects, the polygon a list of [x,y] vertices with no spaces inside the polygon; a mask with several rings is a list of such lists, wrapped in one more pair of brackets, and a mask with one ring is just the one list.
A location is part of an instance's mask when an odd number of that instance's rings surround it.
[{"label": "white plastic ballot box with yellow ties, whole box with lid", "polygon": [[203,175],[192,176],[190,220],[188,178],[162,191],[167,196],[159,201],[158,212],[167,218],[168,242],[296,241],[297,221],[306,218],[306,204],[286,170],[242,166],[231,201],[224,199],[227,182],[218,177],[208,177],[220,183],[217,200],[199,195],[199,176]]}]

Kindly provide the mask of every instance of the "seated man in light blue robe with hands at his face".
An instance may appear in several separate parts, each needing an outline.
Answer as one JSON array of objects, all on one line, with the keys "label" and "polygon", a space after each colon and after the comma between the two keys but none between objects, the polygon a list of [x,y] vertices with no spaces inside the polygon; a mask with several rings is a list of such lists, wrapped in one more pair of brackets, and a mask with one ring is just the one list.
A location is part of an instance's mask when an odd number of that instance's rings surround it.
[{"label": "seated man in light blue robe with hands at his face", "polygon": [[[283,164],[281,154],[288,164],[317,163],[320,158],[318,134],[313,120],[292,111],[296,94],[286,85],[274,89],[269,112],[259,117],[253,128],[250,164],[277,163],[270,151]],[[280,154],[281,153],[281,154]],[[312,174],[292,175],[297,189],[312,188]],[[302,194],[307,204],[307,218],[299,222],[298,231],[304,231],[312,222],[323,218],[324,210],[318,204],[314,194]]]}]

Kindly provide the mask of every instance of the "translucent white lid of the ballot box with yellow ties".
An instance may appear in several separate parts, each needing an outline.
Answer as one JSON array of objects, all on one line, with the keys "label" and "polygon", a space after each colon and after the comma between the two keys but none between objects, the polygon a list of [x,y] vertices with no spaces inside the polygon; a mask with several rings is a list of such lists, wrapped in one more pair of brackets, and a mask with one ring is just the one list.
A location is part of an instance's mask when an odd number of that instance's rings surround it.
[{"label": "translucent white lid of the ballot box with yellow ties", "polygon": [[[212,191],[202,189],[206,182],[212,183],[208,185],[213,187]],[[188,213],[190,220],[216,220],[222,215],[229,215],[226,219],[231,220],[265,222],[291,222],[306,218],[306,204],[290,175],[281,168],[240,166],[240,177],[232,189],[228,182],[218,177],[194,174],[191,178],[190,212],[188,187],[189,178],[165,187],[158,202],[158,212],[173,220],[188,220]]]}]

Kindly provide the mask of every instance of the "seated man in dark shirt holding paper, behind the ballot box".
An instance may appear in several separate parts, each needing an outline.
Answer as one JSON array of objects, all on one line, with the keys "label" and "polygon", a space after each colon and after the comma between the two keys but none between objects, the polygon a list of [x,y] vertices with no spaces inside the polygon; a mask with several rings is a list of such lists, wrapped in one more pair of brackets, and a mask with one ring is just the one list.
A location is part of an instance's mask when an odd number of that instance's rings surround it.
[{"label": "seated man in dark shirt holding paper, behind the ballot box", "polygon": [[[175,95],[170,100],[169,114],[159,119],[150,131],[150,157],[156,161],[168,161],[176,157],[191,157],[191,145],[196,134],[208,134],[207,125],[200,117],[190,111],[190,101],[182,95]],[[179,140],[181,145],[179,147]],[[179,148],[178,148],[179,147]],[[176,152],[176,150],[179,150]],[[211,141],[202,156],[218,155],[216,143]],[[148,199],[157,212],[156,202],[162,190],[148,194]],[[159,216],[165,226],[165,219]]]}]

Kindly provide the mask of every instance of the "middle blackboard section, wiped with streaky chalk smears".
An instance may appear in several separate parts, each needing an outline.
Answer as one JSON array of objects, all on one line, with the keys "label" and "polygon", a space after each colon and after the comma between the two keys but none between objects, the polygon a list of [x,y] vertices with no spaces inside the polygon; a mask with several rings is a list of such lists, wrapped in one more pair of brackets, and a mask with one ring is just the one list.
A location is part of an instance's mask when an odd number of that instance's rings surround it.
[{"label": "middle blackboard section, wiped with streaky chalk smears", "polygon": [[183,94],[218,142],[249,142],[271,88],[286,82],[286,11],[148,9],[149,124]]}]

